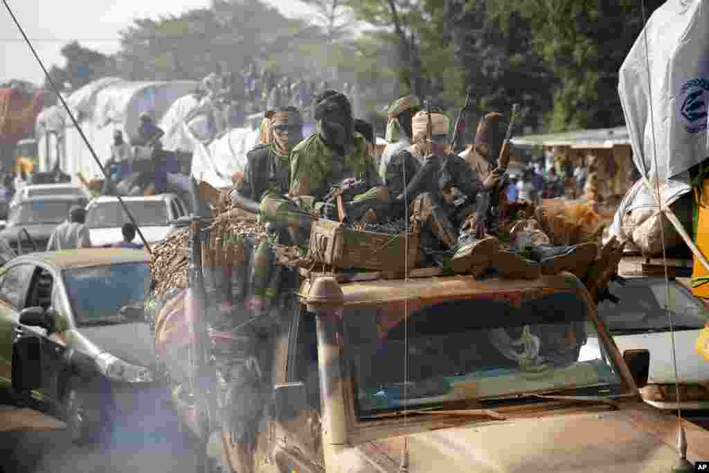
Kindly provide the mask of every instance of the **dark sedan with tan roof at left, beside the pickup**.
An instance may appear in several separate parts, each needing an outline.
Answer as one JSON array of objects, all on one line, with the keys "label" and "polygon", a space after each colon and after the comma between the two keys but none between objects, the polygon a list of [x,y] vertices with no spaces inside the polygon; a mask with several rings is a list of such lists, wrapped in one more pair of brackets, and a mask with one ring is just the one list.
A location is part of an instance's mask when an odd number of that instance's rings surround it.
[{"label": "dark sedan with tan roof at left, beside the pickup", "polygon": [[[131,419],[144,428],[169,401],[142,317],[148,262],[142,250],[91,248],[0,269],[0,382],[57,413],[77,443]],[[43,369],[26,369],[38,357]]]}]

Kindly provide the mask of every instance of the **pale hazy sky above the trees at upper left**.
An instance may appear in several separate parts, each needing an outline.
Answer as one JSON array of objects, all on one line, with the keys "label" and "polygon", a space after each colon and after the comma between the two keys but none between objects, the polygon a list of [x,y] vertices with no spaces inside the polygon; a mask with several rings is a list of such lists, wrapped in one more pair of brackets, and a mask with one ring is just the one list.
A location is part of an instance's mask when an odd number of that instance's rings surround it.
[{"label": "pale hazy sky above the trees at upper left", "polygon": [[[209,0],[6,1],[48,69],[52,64],[62,64],[60,49],[69,41],[79,40],[87,48],[111,54],[120,46],[118,31],[130,26],[135,18],[178,15],[209,3]],[[302,16],[308,11],[308,6],[298,0],[265,1],[289,17]],[[9,79],[24,79],[35,84],[44,82],[42,69],[4,4],[0,4],[0,48],[0,82]]]}]

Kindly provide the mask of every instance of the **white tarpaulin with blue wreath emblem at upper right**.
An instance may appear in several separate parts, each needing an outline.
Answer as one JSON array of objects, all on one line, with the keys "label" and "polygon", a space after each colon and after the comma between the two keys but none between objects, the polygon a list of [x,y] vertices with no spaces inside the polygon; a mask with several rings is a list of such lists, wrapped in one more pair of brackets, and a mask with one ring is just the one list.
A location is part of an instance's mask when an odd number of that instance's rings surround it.
[{"label": "white tarpaulin with blue wreath emblem at upper right", "polygon": [[[618,93],[644,185],[628,191],[615,214],[612,235],[625,236],[622,223],[628,212],[659,212],[659,204],[666,208],[691,191],[688,169],[708,155],[708,1],[666,1],[649,18],[620,67]],[[674,214],[668,212],[667,217],[681,227]],[[693,247],[686,233],[683,238]]]}]

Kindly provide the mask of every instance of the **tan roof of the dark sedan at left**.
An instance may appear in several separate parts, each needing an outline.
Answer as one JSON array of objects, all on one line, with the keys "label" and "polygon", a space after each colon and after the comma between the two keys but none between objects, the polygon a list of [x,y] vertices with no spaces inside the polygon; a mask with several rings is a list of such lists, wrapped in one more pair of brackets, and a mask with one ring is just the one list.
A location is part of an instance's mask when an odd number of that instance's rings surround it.
[{"label": "tan roof of the dark sedan at left", "polygon": [[12,262],[43,262],[57,269],[116,265],[120,263],[150,262],[150,255],[145,250],[128,248],[82,248],[80,250],[62,250],[28,253],[13,258]]}]

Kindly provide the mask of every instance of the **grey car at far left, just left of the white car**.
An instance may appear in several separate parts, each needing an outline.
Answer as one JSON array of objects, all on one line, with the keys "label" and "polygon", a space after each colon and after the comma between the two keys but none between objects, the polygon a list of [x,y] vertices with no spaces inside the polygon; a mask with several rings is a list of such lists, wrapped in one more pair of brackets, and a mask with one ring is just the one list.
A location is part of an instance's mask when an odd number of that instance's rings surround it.
[{"label": "grey car at far left, just left of the white car", "polygon": [[[18,253],[44,251],[54,229],[69,216],[73,206],[84,206],[82,196],[30,197],[11,208],[0,238]],[[28,238],[29,235],[29,238]]]}]

